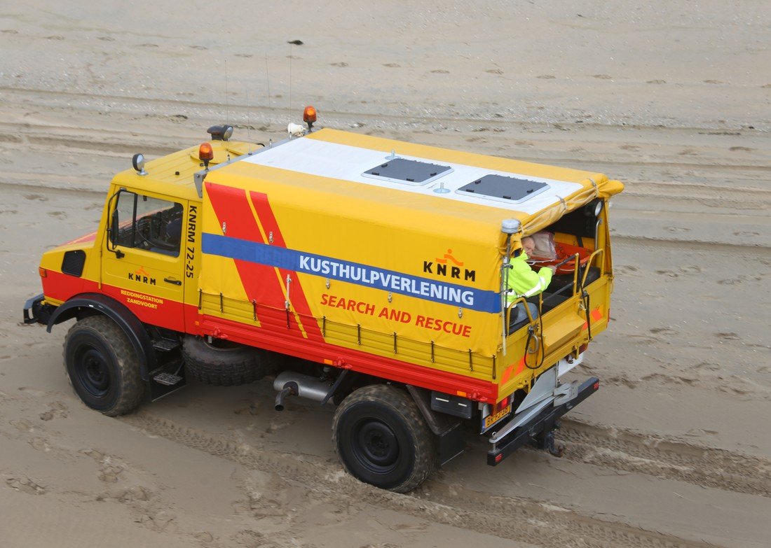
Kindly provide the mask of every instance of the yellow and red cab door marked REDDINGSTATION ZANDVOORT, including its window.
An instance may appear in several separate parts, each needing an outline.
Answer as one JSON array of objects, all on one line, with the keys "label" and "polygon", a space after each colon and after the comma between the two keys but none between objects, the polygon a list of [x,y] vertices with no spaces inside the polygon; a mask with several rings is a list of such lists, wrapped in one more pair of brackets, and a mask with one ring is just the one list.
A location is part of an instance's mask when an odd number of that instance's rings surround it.
[{"label": "yellow and red cab door marked REDDINGSTATION ZANDVOORT, including its window", "polygon": [[187,200],[120,189],[109,199],[103,292],[145,323],[184,331]]}]

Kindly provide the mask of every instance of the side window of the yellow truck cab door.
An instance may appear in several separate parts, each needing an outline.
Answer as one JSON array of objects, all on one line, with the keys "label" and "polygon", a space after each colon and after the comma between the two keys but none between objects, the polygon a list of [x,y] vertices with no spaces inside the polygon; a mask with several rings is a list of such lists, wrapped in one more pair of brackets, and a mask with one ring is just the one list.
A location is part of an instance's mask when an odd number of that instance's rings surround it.
[{"label": "side window of the yellow truck cab door", "polygon": [[182,205],[121,190],[113,212],[110,240],[114,246],[179,256]]}]

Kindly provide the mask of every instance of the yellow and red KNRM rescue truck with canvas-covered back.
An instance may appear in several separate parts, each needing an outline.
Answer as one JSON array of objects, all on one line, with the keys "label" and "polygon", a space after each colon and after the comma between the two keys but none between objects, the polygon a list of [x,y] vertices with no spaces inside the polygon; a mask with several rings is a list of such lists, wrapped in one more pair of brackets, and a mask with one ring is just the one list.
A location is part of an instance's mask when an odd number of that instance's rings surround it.
[{"label": "yellow and red KNRM rescue truck with canvas-covered back", "polygon": [[[414,489],[472,423],[495,466],[554,448],[596,378],[562,377],[608,326],[605,175],[290,124],[267,146],[210,139],[118,173],[99,229],[43,254],[25,322],[75,319],[69,379],[130,413],[184,385],[274,376],[336,407],[349,473]],[[511,289],[526,236],[555,270]]]}]

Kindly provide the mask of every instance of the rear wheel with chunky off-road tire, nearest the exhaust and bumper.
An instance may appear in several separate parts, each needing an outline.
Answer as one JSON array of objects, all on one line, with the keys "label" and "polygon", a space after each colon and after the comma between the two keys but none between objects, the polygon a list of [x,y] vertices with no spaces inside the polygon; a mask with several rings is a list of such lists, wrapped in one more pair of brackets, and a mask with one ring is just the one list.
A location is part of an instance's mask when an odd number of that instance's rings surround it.
[{"label": "rear wheel with chunky off-road tire, nearest the exhaust and bumper", "polygon": [[436,466],[436,443],[412,397],[395,386],[355,390],[335,411],[335,452],[352,476],[407,493]]}]

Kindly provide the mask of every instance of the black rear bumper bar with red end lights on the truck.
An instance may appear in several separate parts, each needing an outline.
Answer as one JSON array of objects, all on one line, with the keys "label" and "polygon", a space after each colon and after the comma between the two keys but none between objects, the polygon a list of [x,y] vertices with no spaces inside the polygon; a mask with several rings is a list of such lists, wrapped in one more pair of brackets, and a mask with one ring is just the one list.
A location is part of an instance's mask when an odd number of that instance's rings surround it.
[{"label": "black rear bumper bar with red end lights on the truck", "polygon": [[[490,451],[487,452],[487,464],[496,466],[521,446],[526,445],[539,436],[550,433],[554,430],[554,423],[557,419],[573,409],[579,403],[583,402],[584,399],[587,399],[597,392],[599,388],[600,381],[597,377],[586,379],[578,386],[574,398],[559,406],[548,406],[527,421],[527,423],[524,423],[522,426],[517,426],[517,428],[513,429],[506,436],[503,436],[503,438],[497,439],[497,441],[492,444],[493,449],[490,449]],[[514,418],[515,417],[512,417],[512,419]]]}]

